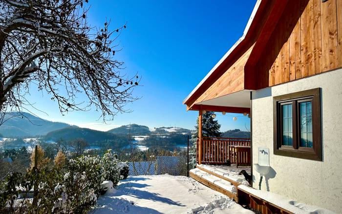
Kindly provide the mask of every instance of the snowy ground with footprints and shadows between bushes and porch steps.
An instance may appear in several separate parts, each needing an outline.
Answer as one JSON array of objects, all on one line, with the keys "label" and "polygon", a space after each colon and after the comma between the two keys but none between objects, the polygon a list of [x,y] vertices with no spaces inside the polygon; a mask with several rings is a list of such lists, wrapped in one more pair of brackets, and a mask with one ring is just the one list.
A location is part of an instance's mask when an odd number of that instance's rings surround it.
[{"label": "snowy ground with footprints and shadows between bushes and porch steps", "polygon": [[253,214],[192,178],[168,174],[129,176],[89,213]]}]

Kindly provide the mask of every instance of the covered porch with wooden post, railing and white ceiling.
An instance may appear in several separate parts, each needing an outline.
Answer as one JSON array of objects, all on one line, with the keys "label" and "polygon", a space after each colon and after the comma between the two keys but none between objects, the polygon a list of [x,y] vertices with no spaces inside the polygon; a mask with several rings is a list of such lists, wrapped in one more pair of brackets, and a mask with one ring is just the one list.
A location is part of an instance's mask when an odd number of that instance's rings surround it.
[{"label": "covered porch with wooden post, railing and white ceiling", "polygon": [[[193,103],[188,110],[198,111],[197,164],[251,166],[251,139],[203,136],[202,118],[207,111],[215,114],[240,113],[251,118],[249,90],[241,90],[210,100]],[[248,127],[250,128],[250,127]]]}]

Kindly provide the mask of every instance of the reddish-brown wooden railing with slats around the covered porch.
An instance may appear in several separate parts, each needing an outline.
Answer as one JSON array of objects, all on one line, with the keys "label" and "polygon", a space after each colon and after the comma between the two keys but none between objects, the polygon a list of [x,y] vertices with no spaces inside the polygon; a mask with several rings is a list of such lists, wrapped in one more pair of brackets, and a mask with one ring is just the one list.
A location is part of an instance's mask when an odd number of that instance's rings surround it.
[{"label": "reddish-brown wooden railing with slats around the covered porch", "polygon": [[[198,163],[199,139],[197,139],[196,161]],[[202,164],[250,165],[251,140],[249,138],[209,138],[202,139]]]}]

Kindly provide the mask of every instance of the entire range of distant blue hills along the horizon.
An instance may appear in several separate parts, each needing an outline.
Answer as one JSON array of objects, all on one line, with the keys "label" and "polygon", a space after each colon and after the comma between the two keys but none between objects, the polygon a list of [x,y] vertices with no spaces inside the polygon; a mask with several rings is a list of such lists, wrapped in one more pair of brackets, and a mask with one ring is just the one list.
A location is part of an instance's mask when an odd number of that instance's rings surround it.
[{"label": "entire range of distant blue hills along the horizon", "polygon": [[[21,114],[23,118],[21,118]],[[178,127],[149,128],[138,124],[131,124],[113,128],[108,131],[98,131],[90,128],[79,128],[66,123],[52,122],[41,119],[26,112],[11,112],[12,117],[0,126],[0,134],[5,138],[24,138],[41,136],[47,141],[85,139],[90,145],[107,142],[116,146],[126,146],[129,143],[128,135],[134,139],[143,140],[148,146],[176,145],[186,142],[186,135],[192,130]],[[222,137],[250,138],[250,132],[233,129],[222,132]],[[137,137],[138,136],[138,137]],[[139,136],[142,136],[139,138]]]}]

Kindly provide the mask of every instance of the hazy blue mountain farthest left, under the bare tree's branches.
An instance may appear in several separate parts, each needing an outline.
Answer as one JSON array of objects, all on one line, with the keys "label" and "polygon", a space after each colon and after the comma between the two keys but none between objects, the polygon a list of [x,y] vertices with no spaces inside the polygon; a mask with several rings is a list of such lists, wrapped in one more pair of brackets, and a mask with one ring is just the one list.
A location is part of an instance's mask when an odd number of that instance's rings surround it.
[{"label": "hazy blue mountain farthest left, under the bare tree's branches", "polygon": [[45,135],[52,130],[70,127],[69,124],[44,120],[27,112],[9,112],[5,120],[0,126],[0,133],[4,137]]}]

